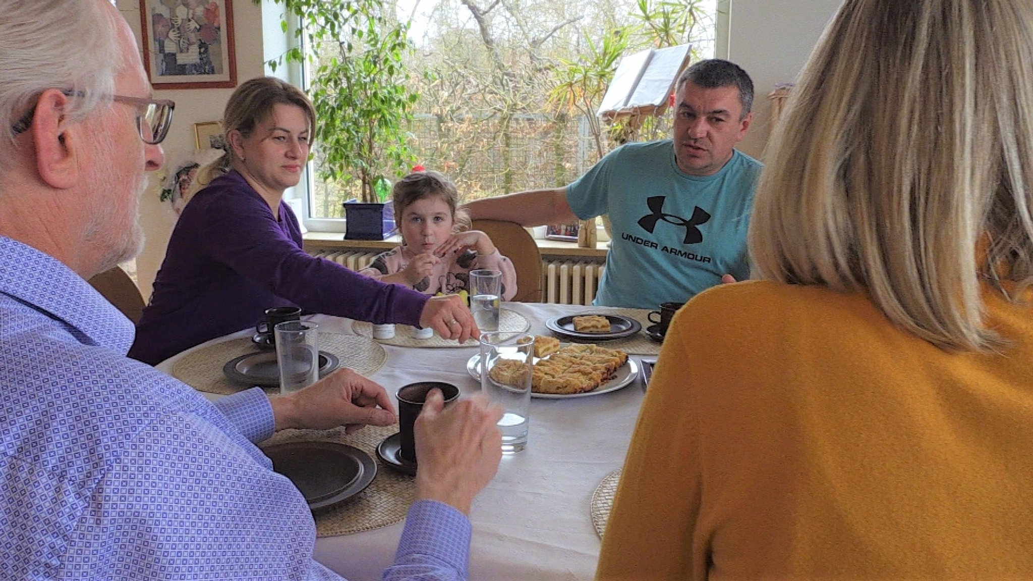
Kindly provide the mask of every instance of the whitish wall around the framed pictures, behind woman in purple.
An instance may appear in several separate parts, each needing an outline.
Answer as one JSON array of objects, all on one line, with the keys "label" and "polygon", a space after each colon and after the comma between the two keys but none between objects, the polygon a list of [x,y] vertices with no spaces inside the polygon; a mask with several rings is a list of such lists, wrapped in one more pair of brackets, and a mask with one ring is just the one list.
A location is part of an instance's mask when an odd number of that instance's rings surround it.
[{"label": "whitish wall around the framed pictures, behind woman in purple", "polygon": [[[236,36],[237,80],[247,80],[264,74],[262,54],[262,6],[252,0],[237,0],[233,4],[233,31]],[[138,0],[117,0],[119,11],[129,22],[136,42],[140,42],[140,14]],[[276,23],[277,27],[279,22]],[[166,165],[177,158],[191,155],[196,147],[193,124],[218,121],[232,89],[179,89],[155,91],[155,98],[176,101],[173,127],[162,142]],[[164,169],[151,174],[151,188],[140,199],[140,225],[147,233],[147,245],[136,258],[136,276],[144,296],[150,296],[154,277],[165,256],[168,236],[176,224],[176,213],[168,202],[158,200]]]}]

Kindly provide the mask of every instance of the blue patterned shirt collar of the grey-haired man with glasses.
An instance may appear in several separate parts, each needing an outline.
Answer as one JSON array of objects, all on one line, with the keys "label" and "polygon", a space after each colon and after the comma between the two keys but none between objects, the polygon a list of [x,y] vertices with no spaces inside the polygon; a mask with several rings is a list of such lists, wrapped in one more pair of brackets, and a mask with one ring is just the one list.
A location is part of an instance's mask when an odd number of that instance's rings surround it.
[{"label": "blue patterned shirt collar of the grey-haired man with glasses", "polygon": [[53,256],[0,236],[0,293],[68,325],[75,338],[121,354],[135,329],[89,283]]}]

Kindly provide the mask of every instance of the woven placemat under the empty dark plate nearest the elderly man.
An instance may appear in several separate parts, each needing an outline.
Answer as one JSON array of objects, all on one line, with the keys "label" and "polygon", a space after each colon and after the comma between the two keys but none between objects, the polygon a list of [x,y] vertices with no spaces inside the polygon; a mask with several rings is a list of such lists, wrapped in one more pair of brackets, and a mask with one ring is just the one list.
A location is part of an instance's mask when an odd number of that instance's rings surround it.
[{"label": "woven placemat under the empty dark plate nearest the elderly man", "polygon": [[398,424],[392,426],[368,425],[363,429],[345,434],[344,428],[330,430],[285,429],[276,432],[261,446],[285,444],[287,442],[336,442],[354,446],[370,455],[377,462],[377,476],[358,494],[347,501],[313,514],[317,537],[351,535],[395,524],[405,518],[409,505],[415,495],[415,478],[406,476],[377,457],[377,446],[385,438],[398,431]]}]

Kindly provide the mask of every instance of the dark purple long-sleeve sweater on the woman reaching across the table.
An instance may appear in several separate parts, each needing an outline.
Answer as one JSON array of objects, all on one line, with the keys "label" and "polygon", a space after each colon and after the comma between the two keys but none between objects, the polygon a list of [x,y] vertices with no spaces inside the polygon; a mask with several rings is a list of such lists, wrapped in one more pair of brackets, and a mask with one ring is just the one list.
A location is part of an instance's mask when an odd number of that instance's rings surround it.
[{"label": "dark purple long-sleeve sweater on the woman reaching across the table", "polygon": [[373,323],[419,324],[428,296],[306,254],[294,214],[283,202],[279,214],[274,218],[236,171],[197,192],[173,230],[129,356],[156,364],[288,304]]}]

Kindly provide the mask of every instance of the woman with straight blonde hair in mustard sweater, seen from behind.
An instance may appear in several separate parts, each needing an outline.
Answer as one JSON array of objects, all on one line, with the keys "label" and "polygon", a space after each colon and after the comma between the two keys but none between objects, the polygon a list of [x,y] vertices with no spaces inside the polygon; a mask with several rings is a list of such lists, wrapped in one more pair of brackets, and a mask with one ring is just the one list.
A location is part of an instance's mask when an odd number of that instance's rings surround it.
[{"label": "woman with straight blonde hair in mustard sweater, seen from behind", "polygon": [[1033,578],[1033,4],[847,0],[756,281],[676,315],[598,579]]}]

